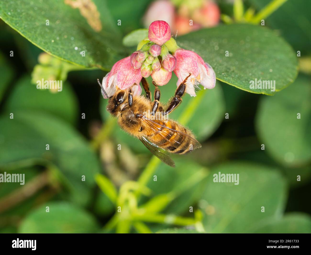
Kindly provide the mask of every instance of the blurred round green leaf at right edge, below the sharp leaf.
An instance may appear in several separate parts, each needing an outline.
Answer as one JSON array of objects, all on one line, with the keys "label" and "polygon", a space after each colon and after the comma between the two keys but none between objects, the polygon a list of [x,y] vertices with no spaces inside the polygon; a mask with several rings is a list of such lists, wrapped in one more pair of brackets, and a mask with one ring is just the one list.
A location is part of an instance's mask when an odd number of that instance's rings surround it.
[{"label": "blurred round green leaf at right edge, below the sharp leaf", "polygon": [[299,76],[293,86],[273,98],[262,98],[259,104],[258,135],[265,150],[284,165],[299,166],[311,160],[310,98],[310,79]]}]

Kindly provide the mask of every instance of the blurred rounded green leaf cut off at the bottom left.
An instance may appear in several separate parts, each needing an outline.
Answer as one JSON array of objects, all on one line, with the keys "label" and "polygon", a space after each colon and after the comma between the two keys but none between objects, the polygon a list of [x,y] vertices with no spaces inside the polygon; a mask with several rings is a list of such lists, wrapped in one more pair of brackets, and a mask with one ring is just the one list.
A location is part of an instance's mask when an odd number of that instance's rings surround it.
[{"label": "blurred rounded green leaf cut off at the bottom left", "polygon": [[[46,212],[49,206],[49,212]],[[19,233],[94,233],[99,229],[87,211],[65,202],[47,202],[32,211],[19,227]]]}]

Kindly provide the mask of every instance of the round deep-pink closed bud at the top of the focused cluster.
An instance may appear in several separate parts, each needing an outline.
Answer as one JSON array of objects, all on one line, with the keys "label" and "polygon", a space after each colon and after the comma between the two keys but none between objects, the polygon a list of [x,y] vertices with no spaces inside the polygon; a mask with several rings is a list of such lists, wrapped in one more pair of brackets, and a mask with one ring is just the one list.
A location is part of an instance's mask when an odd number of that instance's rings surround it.
[{"label": "round deep-pink closed bud at the top of the focused cluster", "polygon": [[157,45],[165,44],[171,38],[169,24],[163,20],[153,21],[149,26],[148,38]]}]

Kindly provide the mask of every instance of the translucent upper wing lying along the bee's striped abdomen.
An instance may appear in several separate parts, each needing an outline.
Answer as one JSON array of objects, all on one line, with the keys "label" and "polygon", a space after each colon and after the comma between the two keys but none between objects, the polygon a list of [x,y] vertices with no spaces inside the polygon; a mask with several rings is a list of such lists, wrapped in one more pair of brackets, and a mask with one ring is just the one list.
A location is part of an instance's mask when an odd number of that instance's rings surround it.
[{"label": "translucent upper wing lying along the bee's striped abdomen", "polygon": [[[173,135],[176,134],[176,136],[186,137],[187,139],[189,139],[191,141],[193,150],[202,147],[202,145],[195,138],[193,138],[190,135],[187,135],[187,134],[185,134],[185,133],[183,133],[181,131],[169,128],[169,127],[167,127],[165,125],[161,125],[160,123],[158,123],[156,121],[153,121],[153,120],[150,120],[149,118],[147,118],[145,116],[143,116],[143,118],[144,118],[145,122],[151,127],[151,129],[155,131],[155,133],[161,135],[168,142],[171,142],[171,143],[175,142],[175,143],[181,144],[177,140],[172,138]],[[169,139],[166,138],[167,135],[169,135],[169,137],[170,137]],[[185,140],[185,139],[182,139],[182,140]]]}]

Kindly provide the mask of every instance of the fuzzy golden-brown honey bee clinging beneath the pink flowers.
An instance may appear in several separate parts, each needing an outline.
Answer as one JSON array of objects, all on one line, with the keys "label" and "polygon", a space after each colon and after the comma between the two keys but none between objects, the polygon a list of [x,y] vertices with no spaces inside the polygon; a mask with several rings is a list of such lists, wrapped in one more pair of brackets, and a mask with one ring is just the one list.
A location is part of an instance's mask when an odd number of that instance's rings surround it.
[{"label": "fuzzy golden-brown honey bee clinging beneath the pink flowers", "polygon": [[151,102],[151,92],[145,78],[142,78],[142,86],[146,97],[132,95],[132,88],[137,86],[136,83],[128,90],[117,90],[113,96],[108,97],[97,79],[104,94],[109,98],[107,111],[118,118],[120,127],[141,140],[147,149],[171,167],[175,167],[175,163],[169,153],[185,154],[202,147],[190,130],[167,118],[182,101],[186,81],[190,75],[177,87],[166,108],[159,102],[161,93],[154,81],[152,83],[156,88],[154,101]]}]

